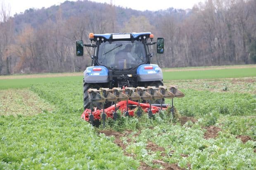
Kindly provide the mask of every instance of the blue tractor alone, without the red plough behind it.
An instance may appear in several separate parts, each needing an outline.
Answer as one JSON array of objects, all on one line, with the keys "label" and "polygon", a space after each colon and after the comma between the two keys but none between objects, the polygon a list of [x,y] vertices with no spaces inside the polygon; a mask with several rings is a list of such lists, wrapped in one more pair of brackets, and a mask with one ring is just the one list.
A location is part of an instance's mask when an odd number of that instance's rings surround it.
[{"label": "blue tractor alone, without the red plough behind it", "polygon": [[[90,108],[88,90],[114,87],[163,86],[161,68],[151,64],[152,46],[156,52],[164,53],[164,38],[148,33],[89,34],[90,44],[76,41],[76,55],[83,56],[83,46],[92,47],[92,66],[83,72],[83,107]],[[161,101],[162,102],[162,101]],[[159,103],[157,100],[154,103]],[[111,103],[105,103],[105,107]],[[100,103],[95,107],[101,109]],[[106,106],[107,105],[107,106]],[[91,107],[92,108],[92,107]]]}]

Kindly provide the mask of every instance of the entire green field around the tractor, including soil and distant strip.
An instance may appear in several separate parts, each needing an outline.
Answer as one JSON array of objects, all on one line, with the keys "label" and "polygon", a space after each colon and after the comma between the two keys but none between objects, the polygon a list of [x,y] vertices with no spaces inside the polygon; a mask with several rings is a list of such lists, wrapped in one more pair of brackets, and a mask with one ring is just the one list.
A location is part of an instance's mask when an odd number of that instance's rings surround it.
[{"label": "entire green field around the tractor, including soil and distant strip", "polygon": [[121,116],[105,129],[80,118],[82,76],[0,79],[0,169],[254,170],[255,72],[165,70],[185,93],[174,118]]}]

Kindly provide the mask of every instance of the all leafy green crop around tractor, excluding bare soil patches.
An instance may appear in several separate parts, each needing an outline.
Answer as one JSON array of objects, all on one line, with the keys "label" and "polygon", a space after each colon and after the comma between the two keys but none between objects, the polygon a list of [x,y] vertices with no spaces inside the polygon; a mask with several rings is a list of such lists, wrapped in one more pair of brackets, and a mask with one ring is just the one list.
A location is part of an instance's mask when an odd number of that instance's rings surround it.
[{"label": "all leafy green crop around tractor, excluding bare soil patches", "polygon": [[[161,168],[152,163],[154,160],[178,163],[180,168],[190,164],[192,169],[256,167],[256,142],[249,140],[243,144],[235,138],[249,135],[256,139],[255,95],[181,89],[185,97],[174,99],[178,117],[200,118],[198,123],[187,122],[184,126],[173,124],[170,111],[155,114],[151,119],[147,114],[140,118],[123,117],[118,112],[117,121],[107,119],[106,127],[121,132],[133,130],[122,138],[127,144],[125,151],[132,158],[124,156],[113,143],[114,137],[98,135],[94,127],[80,118],[82,79],[42,82],[31,89],[55,109],[34,116],[0,116],[0,169],[137,169],[139,161]],[[171,100],[166,99],[168,102]],[[202,126],[211,125],[222,131],[215,139],[206,140]],[[132,142],[128,143],[128,138]],[[165,151],[147,149],[149,141]]]}]

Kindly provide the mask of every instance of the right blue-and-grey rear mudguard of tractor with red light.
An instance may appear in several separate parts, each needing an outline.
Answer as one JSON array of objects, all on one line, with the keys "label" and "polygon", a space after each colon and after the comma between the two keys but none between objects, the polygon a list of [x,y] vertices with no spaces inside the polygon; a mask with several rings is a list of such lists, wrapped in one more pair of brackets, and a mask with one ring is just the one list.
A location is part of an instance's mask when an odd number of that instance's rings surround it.
[{"label": "right blue-and-grey rear mudguard of tractor with red light", "polygon": [[137,68],[137,81],[150,82],[163,79],[163,72],[156,64],[142,64]]}]

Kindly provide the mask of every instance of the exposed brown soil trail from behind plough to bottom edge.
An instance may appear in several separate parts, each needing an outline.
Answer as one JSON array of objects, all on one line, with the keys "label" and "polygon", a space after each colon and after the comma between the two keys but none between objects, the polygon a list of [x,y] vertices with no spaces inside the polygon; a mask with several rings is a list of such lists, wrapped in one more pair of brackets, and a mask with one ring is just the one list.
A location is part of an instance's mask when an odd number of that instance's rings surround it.
[{"label": "exposed brown soil trail from behind plough to bottom edge", "polygon": [[[115,137],[114,143],[117,146],[122,148],[124,155],[131,156],[131,157],[135,158],[134,155],[126,152],[127,145],[123,144],[122,140],[120,139],[121,137],[128,136],[130,133],[132,133],[131,130],[125,130],[125,133],[119,133],[119,132],[116,132],[113,130],[100,130],[99,133],[104,133],[106,136],[114,136]],[[139,131],[139,133],[133,135],[133,137],[135,137],[137,135],[140,135],[140,131]],[[132,142],[131,138],[128,138],[126,140],[126,142],[131,143]],[[165,151],[165,149],[163,147],[159,147],[158,145],[154,144],[151,141],[149,141],[147,143],[146,149],[154,151],[154,152],[161,151],[161,156],[167,156],[165,153],[163,153]],[[178,167],[178,163],[169,164],[169,163],[166,163],[161,160],[154,160],[152,163],[160,164],[165,170],[185,170],[185,169]],[[187,166],[190,169],[190,165],[188,164]],[[140,169],[140,170],[158,170],[158,168],[152,168],[144,162],[140,162],[140,167],[138,169]]]}]

